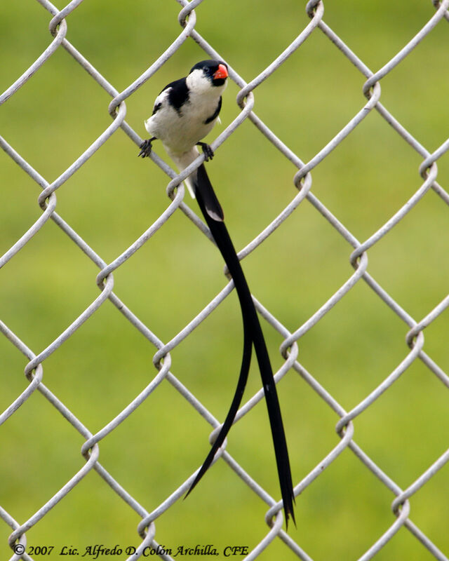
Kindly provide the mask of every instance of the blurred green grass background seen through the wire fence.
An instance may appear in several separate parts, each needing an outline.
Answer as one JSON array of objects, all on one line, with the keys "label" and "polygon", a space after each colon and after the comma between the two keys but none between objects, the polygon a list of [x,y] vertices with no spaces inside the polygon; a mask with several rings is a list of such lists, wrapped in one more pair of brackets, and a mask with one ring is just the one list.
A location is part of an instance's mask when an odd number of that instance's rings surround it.
[{"label": "blurred green grass background seen through the wire fence", "polygon": [[[206,0],[196,29],[246,81],[269,65],[307,25],[304,2]],[[59,6],[62,8],[62,4]],[[180,33],[180,6],[168,0],[83,2],[67,18],[67,39],[117,90],[123,90]],[[326,2],[324,20],[375,71],[431,18],[429,1]],[[0,90],[4,91],[51,42],[51,15],[34,0],[0,8]],[[429,151],[448,135],[448,22],[442,21],[382,82],[382,103]],[[191,39],[126,100],[126,121],[142,137],[143,119],[161,88],[208,58]],[[255,91],[255,112],[307,162],[363,107],[364,78],[317,29]],[[239,107],[230,83],[222,126]],[[49,182],[110,123],[110,97],[62,48],[0,108],[0,134]],[[163,149],[155,149],[166,158]],[[135,241],[168,205],[168,178],[118,130],[58,191],[57,212],[106,262]],[[359,241],[380,228],[420,187],[422,158],[374,111],[313,170],[312,192]],[[293,199],[296,169],[246,121],[208,166],[236,248],[243,248]],[[0,154],[0,253],[39,218],[39,187]],[[449,158],[438,161],[447,186]],[[195,201],[187,204],[197,212]],[[420,320],[448,287],[448,208],[431,191],[368,252],[368,272]],[[307,201],[244,261],[250,287],[294,331],[340,288],[353,269],[352,248]],[[49,221],[0,271],[2,320],[39,353],[98,296],[98,269]],[[213,245],[182,212],[114,273],[116,294],[164,342],[225,285]],[[299,342],[298,360],[346,410],[373,391],[406,357],[408,327],[360,281]],[[282,342],[264,324],[273,365]],[[429,356],[446,372],[448,311],[425,330]],[[43,381],[95,433],[144,388],[156,370],[154,347],[110,302],[43,363]],[[172,372],[223,419],[239,370],[241,319],[234,293],[172,353]],[[6,409],[26,387],[27,360],[0,337]],[[251,371],[246,398],[259,388]],[[448,447],[448,388],[419,361],[354,421],[354,440],[403,489]],[[293,479],[300,482],[337,445],[337,415],[294,371],[279,384]],[[100,461],[152,511],[200,465],[210,426],[164,382],[100,443]],[[228,449],[279,499],[264,403],[234,426]],[[0,428],[0,504],[20,523],[83,466],[83,439],[39,394]],[[449,468],[411,499],[410,518],[449,553]],[[290,536],[315,560],[362,555],[394,522],[394,496],[346,450],[297,498]],[[219,461],[187,501],[156,521],[156,540],[252,549],[267,533],[267,506]],[[83,548],[140,543],[138,515],[95,472],[27,532],[31,545]],[[1,555],[11,529],[2,525]],[[57,557],[53,555],[53,557]],[[36,556],[36,558],[39,558]],[[122,557],[120,557],[122,558]],[[124,556],[123,556],[124,558]],[[221,557],[219,557],[221,558]],[[239,557],[240,558],[240,557]],[[296,558],[275,540],[261,560]],[[406,529],[376,560],[434,557]]]}]

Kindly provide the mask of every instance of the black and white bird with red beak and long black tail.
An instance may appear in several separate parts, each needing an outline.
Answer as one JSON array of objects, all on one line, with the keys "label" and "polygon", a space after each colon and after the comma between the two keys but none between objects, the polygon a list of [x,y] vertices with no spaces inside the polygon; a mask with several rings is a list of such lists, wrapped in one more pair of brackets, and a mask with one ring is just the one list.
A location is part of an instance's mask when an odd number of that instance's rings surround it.
[{"label": "black and white bird with red beak and long black tail", "polygon": [[[213,158],[212,149],[206,142],[201,142],[201,139],[212,130],[219,120],[222,93],[227,86],[227,77],[228,71],[225,62],[203,60],[192,68],[186,78],[171,82],[163,88],[154,102],[152,116],[145,121],[145,128],[151,137],[149,140],[142,142],[139,156],[149,156],[152,151],[152,142],[161,140],[163,147],[180,171],[187,168],[199,156],[197,146],[203,149],[205,161]],[[236,250],[225,226],[222,207],[210,184],[203,163],[187,177],[185,183],[192,197],[197,199],[217,248],[225,259],[229,273],[234,280],[243,320],[243,354],[234,398],[220,433],[213,442],[213,446],[187,494],[192,491],[212,464],[217,450],[225,441],[232,426],[243,398],[254,345],[267,402],[283,508],[288,525],[289,516],[295,522],[293,512],[295,496],[290,473],[290,461],[272,365],[257,311]]]}]

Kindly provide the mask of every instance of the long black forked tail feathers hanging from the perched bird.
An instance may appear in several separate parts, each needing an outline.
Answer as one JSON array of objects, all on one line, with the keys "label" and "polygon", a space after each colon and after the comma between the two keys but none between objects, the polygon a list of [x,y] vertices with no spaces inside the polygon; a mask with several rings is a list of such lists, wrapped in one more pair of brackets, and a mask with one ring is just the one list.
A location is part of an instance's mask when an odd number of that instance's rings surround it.
[{"label": "long black forked tail feathers hanging from the perched bird", "polygon": [[[232,240],[229,237],[225,223],[222,222],[222,220],[217,221],[216,219],[213,219],[213,217],[210,216],[210,212],[208,212],[208,201],[217,201],[217,197],[215,196],[213,187],[210,184],[206,173],[206,168],[203,164],[201,164],[197,170],[195,187],[199,207],[206,219],[210,232],[215,239],[215,243],[217,243],[217,247],[220,250],[223,259],[225,259],[225,263],[227,264],[232,279],[234,280],[234,286],[239,297],[243,319],[243,357],[239,381],[237,383],[237,388],[234,393],[231,407],[229,408],[229,412],[225,419],[225,423],[223,424],[217,439],[213,443],[203,466],[201,467],[199,473],[197,473],[189,492],[192,491],[199,480],[203,477],[204,473],[206,473],[213,461],[215,453],[224,442],[227,433],[232,426],[236,412],[239,410],[243,397],[243,391],[248,379],[252,350],[251,346],[254,344],[257,363],[259,365],[260,376],[262,378],[262,385],[264,388],[265,400],[267,402],[268,417],[274,444],[274,454],[276,456],[279,484],[283,499],[283,508],[286,514],[286,525],[288,525],[289,516],[291,516],[293,522],[295,522],[295,513],[293,512],[293,502],[295,501],[295,496],[293,494],[293,482],[290,472],[290,461],[288,459],[286,435],[283,429],[281,417],[281,407],[279,407],[276,384],[274,383],[272,365],[269,360],[264,335],[262,333],[262,328],[260,327],[259,318],[257,317],[257,312],[255,310],[253,298],[251,297],[250,289],[248,288],[248,283],[246,282],[245,275],[241,269],[239,258],[236,255],[236,250],[234,249]],[[189,494],[189,492],[187,494]]]}]

